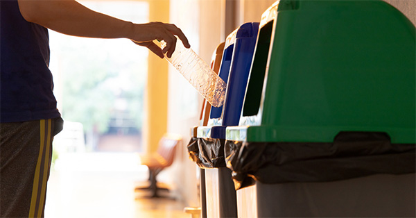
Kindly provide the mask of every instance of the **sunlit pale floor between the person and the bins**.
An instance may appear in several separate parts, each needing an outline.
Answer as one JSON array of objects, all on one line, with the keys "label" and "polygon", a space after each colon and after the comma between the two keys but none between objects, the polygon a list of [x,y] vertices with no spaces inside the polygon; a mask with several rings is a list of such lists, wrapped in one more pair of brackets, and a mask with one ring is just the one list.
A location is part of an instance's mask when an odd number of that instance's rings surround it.
[{"label": "sunlit pale floor between the person and the bins", "polygon": [[[65,153],[51,171],[46,218],[189,218],[184,203],[135,193],[147,169],[134,153]],[[160,174],[162,181],[168,175]],[[168,181],[168,179],[166,179]],[[174,193],[173,193],[174,194]]]}]

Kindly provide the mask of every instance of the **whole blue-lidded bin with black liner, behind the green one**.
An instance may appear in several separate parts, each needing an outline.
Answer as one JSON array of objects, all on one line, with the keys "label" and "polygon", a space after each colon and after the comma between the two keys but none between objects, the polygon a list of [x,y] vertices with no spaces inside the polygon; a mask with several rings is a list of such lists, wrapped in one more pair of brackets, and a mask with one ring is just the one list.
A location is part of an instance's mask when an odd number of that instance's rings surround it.
[{"label": "whole blue-lidded bin with black liner, behind the green one", "polygon": [[207,217],[237,217],[236,191],[225,166],[227,126],[239,124],[259,23],[245,23],[225,41],[219,76],[227,81],[225,102],[211,107],[207,126],[199,126],[197,163],[205,170]]}]

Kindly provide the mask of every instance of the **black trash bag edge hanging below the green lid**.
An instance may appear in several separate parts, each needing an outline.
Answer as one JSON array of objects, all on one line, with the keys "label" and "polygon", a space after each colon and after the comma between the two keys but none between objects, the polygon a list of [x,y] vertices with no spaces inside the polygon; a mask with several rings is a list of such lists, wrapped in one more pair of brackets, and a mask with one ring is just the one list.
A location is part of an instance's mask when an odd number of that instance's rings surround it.
[{"label": "black trash bag edge hanging below the green lid", "polygon": [[386,133],[340,132],[332,143],[225,144],[236,190],[261,183],[328,182],[372,174],[415,173],[416,144],[391,144]]}]

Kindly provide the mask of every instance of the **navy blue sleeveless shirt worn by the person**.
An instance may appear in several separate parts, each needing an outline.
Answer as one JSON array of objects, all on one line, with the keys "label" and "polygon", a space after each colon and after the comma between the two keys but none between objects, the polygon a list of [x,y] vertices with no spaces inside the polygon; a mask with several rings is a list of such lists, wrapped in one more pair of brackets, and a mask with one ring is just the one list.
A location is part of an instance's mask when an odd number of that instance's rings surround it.
[{"label": "navy blue sleeveless shirt worn by the person", "polygon": [[49,70],[49,34],[17,0],[0,1],[0,122],[60,117]]}]

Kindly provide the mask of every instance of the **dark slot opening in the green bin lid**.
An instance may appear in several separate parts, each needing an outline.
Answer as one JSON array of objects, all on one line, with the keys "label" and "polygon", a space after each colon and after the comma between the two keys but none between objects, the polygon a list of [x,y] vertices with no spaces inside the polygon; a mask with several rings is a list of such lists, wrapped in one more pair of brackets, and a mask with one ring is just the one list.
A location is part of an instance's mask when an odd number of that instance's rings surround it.
[{"label": "dark slot opening in the green bin lid", "polygon": [[272,27],[273,21],[270,21],[261,27],[259,32],[259,40],[257,40],[256,51],[254,51],[254,60],[245,94],[243,117],[257,115],[259,112],[261,92],[263,91],[262,87],[272,37]]}]

